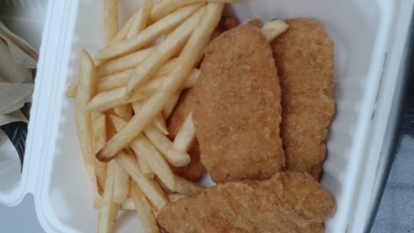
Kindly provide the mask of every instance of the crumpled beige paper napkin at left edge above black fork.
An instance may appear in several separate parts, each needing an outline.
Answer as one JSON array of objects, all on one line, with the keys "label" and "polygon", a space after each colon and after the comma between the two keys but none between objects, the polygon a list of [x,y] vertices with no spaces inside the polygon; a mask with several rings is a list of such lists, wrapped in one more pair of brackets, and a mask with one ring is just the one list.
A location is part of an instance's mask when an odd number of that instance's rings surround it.
[{"label": "crumpled beige paper napkin at left edge above black fork", "polygon": [[0,21],[0,126],[29,121],[26,111],[21,109],[25,103],[32,102],[37,59],[38,54],[27,42]]}]

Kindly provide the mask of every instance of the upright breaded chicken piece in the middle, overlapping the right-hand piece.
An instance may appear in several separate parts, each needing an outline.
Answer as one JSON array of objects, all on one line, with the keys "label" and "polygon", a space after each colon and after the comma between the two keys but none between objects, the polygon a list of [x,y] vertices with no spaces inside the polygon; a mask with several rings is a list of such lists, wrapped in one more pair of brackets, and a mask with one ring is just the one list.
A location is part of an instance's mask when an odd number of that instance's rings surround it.
[{"label": "upright breaded chicken piece in the middle, overlapping the right-hand piece", "polygon": [[194,86],[201,162],[215,183],[264,180],[285,165],[281,89],[259,28],[239,25],[211,41]]}]

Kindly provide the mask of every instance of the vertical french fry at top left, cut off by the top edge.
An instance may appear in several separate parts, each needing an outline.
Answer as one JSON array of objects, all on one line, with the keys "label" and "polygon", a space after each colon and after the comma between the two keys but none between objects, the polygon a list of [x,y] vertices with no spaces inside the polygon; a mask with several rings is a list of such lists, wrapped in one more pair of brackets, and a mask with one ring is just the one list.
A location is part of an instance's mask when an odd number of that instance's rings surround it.
[{"label": "vertical french fry at top left, cut off by the top edge", "polygon": [[118,0],[103,1],[103,28],[106,44],[109,44],[118,33]]}]

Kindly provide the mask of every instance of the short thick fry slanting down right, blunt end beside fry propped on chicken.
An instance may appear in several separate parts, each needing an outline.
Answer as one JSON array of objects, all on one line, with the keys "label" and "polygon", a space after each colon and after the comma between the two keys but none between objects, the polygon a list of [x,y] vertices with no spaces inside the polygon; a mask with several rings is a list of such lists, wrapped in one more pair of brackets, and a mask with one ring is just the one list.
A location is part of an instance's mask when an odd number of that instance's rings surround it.
[{"label": "short thick fry slanting down right, blunt end beside fry propped on chicken", "polygon": [[176,150],[166,135],[158,130],[153,124],[144,129],[144,134],[149,141],[164,154],[164,157],[173,166],[186,166],[190,163],[190,155],[186,152]]}]

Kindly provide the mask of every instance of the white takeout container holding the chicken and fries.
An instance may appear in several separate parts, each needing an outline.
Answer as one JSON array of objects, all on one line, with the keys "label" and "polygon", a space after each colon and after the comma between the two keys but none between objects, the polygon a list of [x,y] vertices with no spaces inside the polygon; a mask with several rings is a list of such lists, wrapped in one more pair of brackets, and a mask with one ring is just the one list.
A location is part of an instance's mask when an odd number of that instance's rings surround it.
[{"label": "white takeout container holding the chicken and fries", "polygon": [[[123,25],[143,0],[119,1]],[[337,202],[326,220],[330,233],[366,229],[381,176],[390,110],[399,101],[399,68],[414,0],[241,0],[227,9],[245,23],[254,18],[309,17],[322,23],[334,42],[337,113],[327,139],[322,186]],[[104,46],[103,3],[49,0],[23,173],[0,185],[0,201],[16,205],[32,193],[47,232],[95,232],[93,184],[87,178],[66,87],[79,69],[82,48],[94,55]],[[394,122],[395,123],[395,122]],[[8,170],[0,163],[0,182]],[[374,190],[374,191],[373,191]],[[143,232],[133,211],[118,216],[118,232]]]}]

